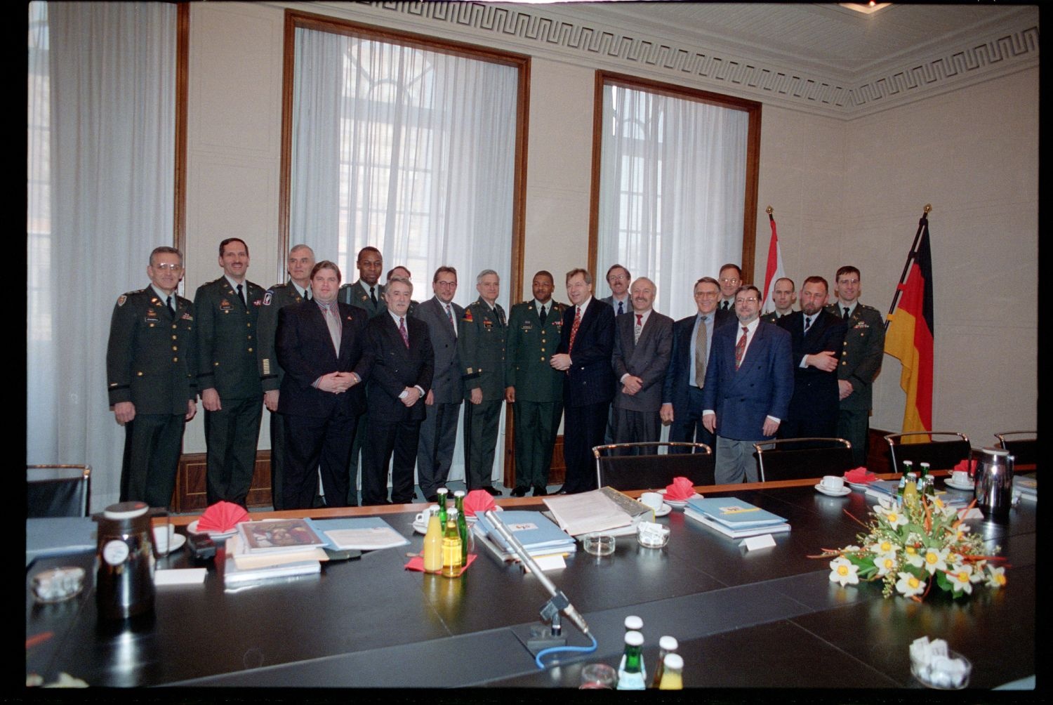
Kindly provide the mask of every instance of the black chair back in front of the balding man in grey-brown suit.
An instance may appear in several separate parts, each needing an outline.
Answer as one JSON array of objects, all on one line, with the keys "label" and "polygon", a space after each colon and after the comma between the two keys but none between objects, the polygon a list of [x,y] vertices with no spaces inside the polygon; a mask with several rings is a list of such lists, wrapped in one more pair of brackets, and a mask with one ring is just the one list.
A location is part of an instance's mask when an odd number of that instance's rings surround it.
[{"label": "black chair back in front of the balding man in grey-brown suit", "polygon": [[[681,452],[659,454],[662,447]],[[680,476],[696,486],[713,484],[713,451],[703,443],[615,443],[596,446],[593,455],[599,487],[660,489]]]}]

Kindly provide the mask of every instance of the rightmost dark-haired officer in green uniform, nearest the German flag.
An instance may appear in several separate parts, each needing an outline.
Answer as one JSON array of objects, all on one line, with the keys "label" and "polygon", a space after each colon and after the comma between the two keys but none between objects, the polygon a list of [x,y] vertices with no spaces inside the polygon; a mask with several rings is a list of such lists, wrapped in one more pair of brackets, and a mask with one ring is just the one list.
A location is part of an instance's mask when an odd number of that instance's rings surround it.
[{"label": "rightmost dark-haired officer in green uniform, nearest the German flag", "polygon": [[837,301],[827,307],[827,311],[848,326],[837,365],[840,393],[837,435],[852,443],[856,465],[866,465],[873,384],[881,371],[885,354],[885,321],[880,311],[859,302],[859,270],[851,266],[840,268],[834,289]]}]

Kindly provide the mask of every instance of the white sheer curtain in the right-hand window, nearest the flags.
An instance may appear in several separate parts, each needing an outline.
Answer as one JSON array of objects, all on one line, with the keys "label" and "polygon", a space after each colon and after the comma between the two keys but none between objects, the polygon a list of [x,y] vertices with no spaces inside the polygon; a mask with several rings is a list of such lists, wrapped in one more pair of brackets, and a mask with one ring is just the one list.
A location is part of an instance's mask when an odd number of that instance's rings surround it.
[{"label": "white sheer curtain in the right-hand window, nearest the flags", "polygon": [[749,115],[607,84],[596,292],[615,262],[658,286],[655,309],[695,310],[694,282],[742,257]]}]

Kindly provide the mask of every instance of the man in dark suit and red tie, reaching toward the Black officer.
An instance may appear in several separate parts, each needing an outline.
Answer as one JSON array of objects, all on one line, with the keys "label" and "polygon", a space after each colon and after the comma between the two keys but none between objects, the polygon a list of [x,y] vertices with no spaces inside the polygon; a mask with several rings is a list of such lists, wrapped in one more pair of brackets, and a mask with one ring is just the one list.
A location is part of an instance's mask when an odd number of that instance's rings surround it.
[{"label": "man in dark suit and red tie, reaching toward the Black officer", "polygon": [[563,334],[550,365],[567,373],[563,380],[563,462],[561,492],[596,489],[594,446],[603,444],[608,411],[614,396],[614,309],[593,298],[588,270],[567,273],[571,306],[563,312]]}]

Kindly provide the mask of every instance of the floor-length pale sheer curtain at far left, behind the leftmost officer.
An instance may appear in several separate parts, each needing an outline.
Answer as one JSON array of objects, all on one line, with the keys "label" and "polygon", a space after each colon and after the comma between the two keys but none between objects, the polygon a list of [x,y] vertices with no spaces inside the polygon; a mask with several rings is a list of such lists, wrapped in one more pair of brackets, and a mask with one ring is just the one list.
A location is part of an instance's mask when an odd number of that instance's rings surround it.
[{"label": "floor-length pale sheer curtain at far left, behind the leftmost officer", "polygon": [[124,443],[110,316],[172,243],[176,14],[29,5],[26,463],[91,465],[93,511],[118,500]]}]

